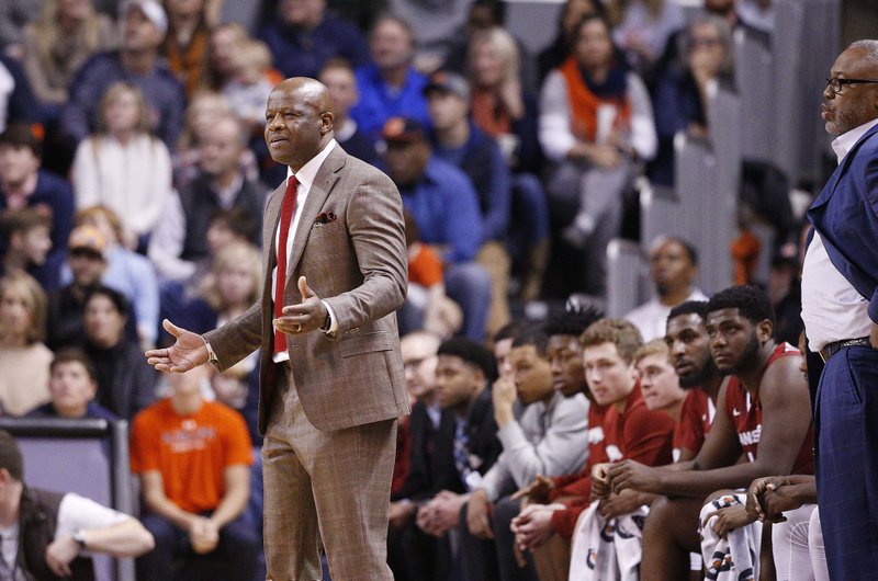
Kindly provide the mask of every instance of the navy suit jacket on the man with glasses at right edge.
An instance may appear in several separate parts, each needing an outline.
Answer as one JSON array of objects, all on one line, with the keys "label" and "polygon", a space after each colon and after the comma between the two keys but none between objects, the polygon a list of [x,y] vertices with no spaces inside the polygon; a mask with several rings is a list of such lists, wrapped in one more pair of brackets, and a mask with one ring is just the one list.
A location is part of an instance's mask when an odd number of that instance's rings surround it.
[{"label": "navy suit jacket on the man with glasses at right edge", "polygon": [[851,148],[808,209],[833,265],[878,322],[878,125]]}]

